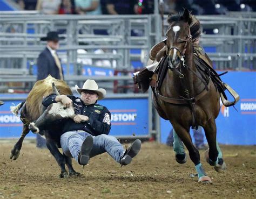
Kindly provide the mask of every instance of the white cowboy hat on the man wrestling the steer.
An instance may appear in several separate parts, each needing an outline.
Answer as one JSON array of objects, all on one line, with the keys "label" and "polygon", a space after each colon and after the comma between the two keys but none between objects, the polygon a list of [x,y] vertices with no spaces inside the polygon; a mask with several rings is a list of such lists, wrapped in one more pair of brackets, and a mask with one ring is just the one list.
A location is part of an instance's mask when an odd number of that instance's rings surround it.
[{"label": "white cowboy hat on the man wrestling the steer", "polygon": [[86,80],[84,82],[83,88],[79,88],[77,85],[75,86],[78,94],[81,95],[83,90],[92,90],[98,94],[98,100],[102,100],[106,96],[106,90],[103,88],[99,88],[98,84],[94,80]]}]

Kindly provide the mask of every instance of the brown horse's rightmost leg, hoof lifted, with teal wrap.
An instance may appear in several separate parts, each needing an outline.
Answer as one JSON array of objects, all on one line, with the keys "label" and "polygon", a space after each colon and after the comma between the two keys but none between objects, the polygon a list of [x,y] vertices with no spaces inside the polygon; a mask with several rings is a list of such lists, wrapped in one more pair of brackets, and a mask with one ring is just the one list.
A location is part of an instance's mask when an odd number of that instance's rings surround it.
[{"label": "brown horse's rightmost leg, hoof lifted, with teal wrap", "polygon": [[205,159],[217,172],[224,172],[226,164],[223,160],[223,155],[216,140],[216,123],[215,119],[207,122],[204,126],[205,136],[208,141],[209,149],[205,152]]}]

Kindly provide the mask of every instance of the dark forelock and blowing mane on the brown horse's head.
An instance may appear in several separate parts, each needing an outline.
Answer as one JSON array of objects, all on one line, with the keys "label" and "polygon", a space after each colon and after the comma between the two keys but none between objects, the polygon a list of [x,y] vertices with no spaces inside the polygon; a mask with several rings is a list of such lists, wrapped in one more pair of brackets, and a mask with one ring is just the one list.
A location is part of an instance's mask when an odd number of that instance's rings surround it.
[{"label": "dark forelock and blowing mane on the brown horse's head", "polygon": [[[167,17],[167,22],[169,23],[169,25],[171,25],[171,23],[173,23],[173,22],[180,22],[181,20],[184,20],[183,12],[179,12],[176,15],[169,15]],[[201,34],[201,31],[200,31],[201,24],[200,24],[199,20],[190,14],[190,19],[188,20],[188,25],[190,25],[190,32],[193,37],[193,40],[199,38],[199,36]]]}]

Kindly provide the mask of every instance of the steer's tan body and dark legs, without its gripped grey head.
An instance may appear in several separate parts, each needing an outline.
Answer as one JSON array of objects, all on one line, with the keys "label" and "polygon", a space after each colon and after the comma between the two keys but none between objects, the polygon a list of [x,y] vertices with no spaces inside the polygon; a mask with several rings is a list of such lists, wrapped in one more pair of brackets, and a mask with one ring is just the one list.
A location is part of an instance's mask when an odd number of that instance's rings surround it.
[{"label": "steer's tan body and dark legs, without its gripped grey head", "polygon": [[[18,158],[23,140],[26,134],[28,134],[30,131],[29,124],[37,120],[42,114],[45,114],[44,110],[46,108],[42,105],[42,100],[44,97],[52,94],[52,83],[54,83],[60,90],[61,95],[72,95],[72,91],[63,80],[56,80],[49,75],[46,77],[46,79],[37,81],[35,83],[28,97],[26,98],[26,101],[19,103],[17,106],[11,106],[11,111],[15,115],[18,115],[18,112],[21,109],[20,118],[23,122],[23,132],[17,143],[14,145],[14,148],[11,150],[10,159],[16,160]],[[60,166],[61,173],[59,177],[79,175],[79,173],[75,172],[72,167],[71,158],[61,154],[57,148],[60,147],[60,136],[62,134],[61,130],[58,129],[59,126],[60,125],[48,126],[46,128],[48,130],[42,129],[41,131],[38,131],[38,133],[45,136],[46,146],[49,148],[51,154],[55,157],[58,165]],[[69,168],[69,174],[66,172],[65,164]]]}]

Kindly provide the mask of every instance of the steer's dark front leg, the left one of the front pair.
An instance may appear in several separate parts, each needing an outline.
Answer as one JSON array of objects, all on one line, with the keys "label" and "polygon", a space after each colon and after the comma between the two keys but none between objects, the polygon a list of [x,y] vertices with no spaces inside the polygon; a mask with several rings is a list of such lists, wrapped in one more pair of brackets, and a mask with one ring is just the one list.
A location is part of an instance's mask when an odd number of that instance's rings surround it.
[{"label": "steer's dark front leg, the left one of the front pair", "polygon": [[[46,134],[46,133],[45,133]],[[56,142],[50,138],[48,138],[48,136],[45,136],[46,138],[46,146],[48,147],[49,151],[51,152],[51,154],[53,155],[53,157],[55,157],[56,161],[58,162],[58,165],[60,167],[60,174],[59,177],[63,178],[63,177],[69,177],[68,172],[66,172],[65,169],[65,157],[59,152]]]}]

